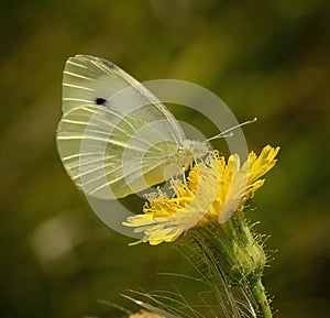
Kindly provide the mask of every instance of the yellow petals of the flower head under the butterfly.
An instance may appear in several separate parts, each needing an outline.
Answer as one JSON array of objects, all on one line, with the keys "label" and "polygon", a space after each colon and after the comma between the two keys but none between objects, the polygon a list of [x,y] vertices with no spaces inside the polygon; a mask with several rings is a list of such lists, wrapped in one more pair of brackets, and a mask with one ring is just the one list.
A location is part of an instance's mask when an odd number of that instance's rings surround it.
[{"label": "yellow petals of the flower head under the butterfly", "polygon": [[241,166],[238,155],[230,155],[228,162],[217,151],[205,162],[196,164],[189,172],[187,182],[172,180],[174,196],[162,190],[147,195],[143,215],[129,217],[127,227],[134,232],[143,232],[142,240],[152,245],[173,242],[207,217],[226,222],[264,184],[260,179],[276,163],[279,147],[265,146],[258,156],[254,152]]}]

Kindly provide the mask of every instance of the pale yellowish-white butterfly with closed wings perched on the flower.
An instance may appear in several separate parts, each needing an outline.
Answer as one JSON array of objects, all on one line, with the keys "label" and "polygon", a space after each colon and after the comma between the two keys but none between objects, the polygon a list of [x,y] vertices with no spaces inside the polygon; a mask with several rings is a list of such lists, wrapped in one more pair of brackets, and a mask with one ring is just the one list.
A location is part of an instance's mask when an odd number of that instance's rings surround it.
[{"label": "pale yellowish-white butterfly with closed wings perched on the flower", "polygon": [[206,142],[187,140],[174,116],[142,84],[112,63],[87,55],[65,64],[56,141],[74,183],[100,199],[123,198],[162,183],[208,150]]}]

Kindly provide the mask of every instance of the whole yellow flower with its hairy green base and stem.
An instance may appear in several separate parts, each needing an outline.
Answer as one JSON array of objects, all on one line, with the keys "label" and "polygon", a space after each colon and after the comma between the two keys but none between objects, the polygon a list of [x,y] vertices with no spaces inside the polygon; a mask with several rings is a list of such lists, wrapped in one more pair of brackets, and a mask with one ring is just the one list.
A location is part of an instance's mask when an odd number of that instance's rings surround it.
[{"label": "whole yellow flower with its hairy green base and stem", "polygon": [[239,311],[233,307],[237,314],[232,317],[272,317],[262,284],[267,256],[261,237],[251,231],[244,208],[264,184],[262,177],[275,165],[278,151],[267,145],[258,156],[251,152],[242,164],[235,154],[226,161],[213,151],[191,168],[187,180],[172,180],[172,197],[161,189],[147,195],[143,213],[124,222],[144,233],[135,243],[173,242],[186,232],[178,248],[188,259],[194,255],[201,273],[207,271],[206,277],[212,278],[206,281],[212,282],[213,289],[219,284],[229,286],[227,290],[234,286],[248,301]]}]

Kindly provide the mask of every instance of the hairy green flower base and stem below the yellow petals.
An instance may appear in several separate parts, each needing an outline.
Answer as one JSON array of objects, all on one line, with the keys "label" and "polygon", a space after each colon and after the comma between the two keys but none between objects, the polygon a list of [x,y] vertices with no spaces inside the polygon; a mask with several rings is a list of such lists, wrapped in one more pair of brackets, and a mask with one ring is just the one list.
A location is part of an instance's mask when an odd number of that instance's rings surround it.
[{"label": "hairy green flower base and stem below the yellow petals", "polygon": [[208,227],[190,230],[189,233],[200,250],[196,253],[201,256],[198,263],[206,263],[204,267],[210,268],[215,282],[224,282],[227,290],[235,289],[237,295],[243,295],[250,304],[245,308],[249,308],[252,317],[272,318],[270,301],[262,284],[266,254],[260,237],[251,230],[243,212],[238,211],[223,224],[209,219]]}]

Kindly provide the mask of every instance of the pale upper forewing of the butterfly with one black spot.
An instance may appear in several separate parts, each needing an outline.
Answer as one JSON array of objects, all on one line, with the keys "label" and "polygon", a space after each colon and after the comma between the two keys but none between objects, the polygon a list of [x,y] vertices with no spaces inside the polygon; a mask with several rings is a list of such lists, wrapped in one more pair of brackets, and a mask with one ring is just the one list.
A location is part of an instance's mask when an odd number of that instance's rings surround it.
[{"label": "pale upper forewing of the butterfly with one black spot", "polygon": [[[153,120],[166,119],[173,138],[177,142],[185,139],[176,119],[151,91],[117,65],[99,57],[76,55],[67,59],[63,72],[63,112],[86,103],[105,101],[107,105],[107,101],[125,88],[131,88],[123,91],[123,95],[130,95],[127,101],[131,99],[134,105],[140,99],[140,103],[151,105],[147,113]],[[120,108],[121,105],[116,107]]]}]

